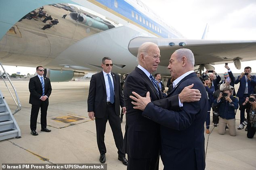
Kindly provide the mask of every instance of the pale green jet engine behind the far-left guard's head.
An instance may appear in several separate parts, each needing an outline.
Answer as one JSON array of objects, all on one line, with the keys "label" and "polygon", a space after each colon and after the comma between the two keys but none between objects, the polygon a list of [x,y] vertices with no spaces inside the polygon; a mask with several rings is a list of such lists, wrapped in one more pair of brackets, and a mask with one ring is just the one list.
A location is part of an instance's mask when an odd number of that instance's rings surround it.
[{"label": "pale green jet engine behind the far-left guard's head", "polygon": [[68,82],[72,78],[84,77],[84,72],[73,70],[51,70],[44,69],[44,76],[50,79],[51,82]]}]

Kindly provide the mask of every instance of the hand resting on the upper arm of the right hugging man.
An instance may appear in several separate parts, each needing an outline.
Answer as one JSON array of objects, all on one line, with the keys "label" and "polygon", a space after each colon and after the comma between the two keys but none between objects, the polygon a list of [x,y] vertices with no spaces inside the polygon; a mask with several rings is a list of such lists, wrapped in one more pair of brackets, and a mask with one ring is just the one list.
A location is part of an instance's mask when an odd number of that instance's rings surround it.
[{"label": "hand resting on the upper arm of the right hugging man", "polygon": [[180,102],[184,103],[184,102],[197,102],[200,100],[201,98],[201,93],[198,89],[192,89],[192,87],[194,86],[194,84],[191,84],[187,87],[185,87],[180,94],[178,95],[178,97],[180,98]]}]

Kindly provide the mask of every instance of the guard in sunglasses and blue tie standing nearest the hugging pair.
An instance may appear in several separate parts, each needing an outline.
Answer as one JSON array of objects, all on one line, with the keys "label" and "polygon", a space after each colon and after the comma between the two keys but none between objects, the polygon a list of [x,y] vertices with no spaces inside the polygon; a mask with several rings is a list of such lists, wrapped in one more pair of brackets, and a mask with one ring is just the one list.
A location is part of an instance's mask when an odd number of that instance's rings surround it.
[{"label": "guard in sunglasses and blue tie standing nearest the hugging pair", "polygon": [[109,57],[103,57],[101,67],[102,72],[92,75],[90,80],[88,94],[88,115],[90,119],[96,123],[97,144],[100,152],[99,161],[105,163],[107,152],[104,143],[104,135],[106,131],[106,123],[109,120],[109,125],[112,129],[115,139],[115,145],[118,148],[118,160],[124,165],[128,162],[123,151],[123,133],[120,122],[120,106],[123,113],[126,113],[124,107],[124,97],[118,74],[111,72],[112,61]]}]

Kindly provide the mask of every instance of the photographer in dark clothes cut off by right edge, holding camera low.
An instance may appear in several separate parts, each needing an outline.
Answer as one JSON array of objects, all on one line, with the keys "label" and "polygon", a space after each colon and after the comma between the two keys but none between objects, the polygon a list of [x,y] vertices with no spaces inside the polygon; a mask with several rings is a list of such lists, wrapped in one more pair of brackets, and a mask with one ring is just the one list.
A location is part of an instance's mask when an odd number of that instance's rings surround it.
[{"label": "photographer in dark clothes cut off by right edge, holding camera low", "polygon": [[[256,94],[250,94],[250,98],[246,98],[243,103],[246,106],[247,119],[241,124],[241,126],[246,125],[248,127],[247,137],[253,138],[256,132]],[[240,125],[239,125],[240,126]]]}]

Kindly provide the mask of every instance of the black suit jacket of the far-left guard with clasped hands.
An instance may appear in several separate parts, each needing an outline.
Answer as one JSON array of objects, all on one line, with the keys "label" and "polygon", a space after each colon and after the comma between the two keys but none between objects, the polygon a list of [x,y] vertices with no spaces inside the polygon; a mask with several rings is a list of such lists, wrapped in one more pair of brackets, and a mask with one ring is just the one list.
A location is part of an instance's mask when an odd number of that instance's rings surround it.
[{"label": "black suit jacket of the far-left guard with clasped hands", "polygon": [[[42,84],[38,76],[32,77],[29,80],[29,103],[30,104],[40,104],[42,100],[40,100],[43,90],[42,90]],[[52,86],[50,84],[50,79],[45,77],[44,78],[44,95],[46,95],[48,98],[50,97],[50,94],[52,93]],[[45,100],[46,103],[49,102],[48,98]]]}]

